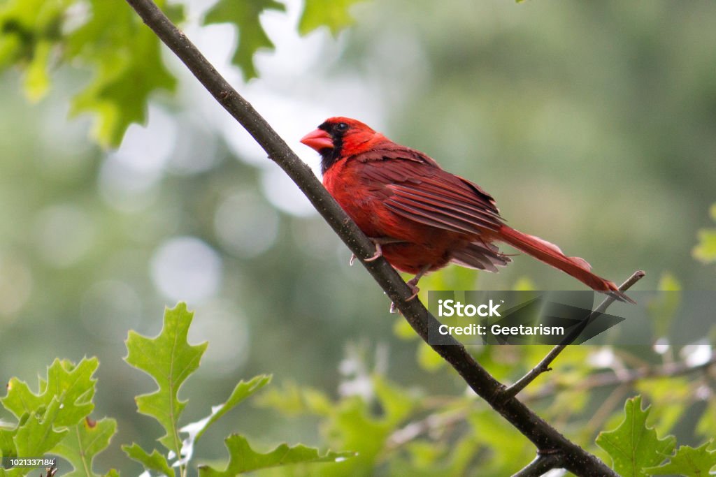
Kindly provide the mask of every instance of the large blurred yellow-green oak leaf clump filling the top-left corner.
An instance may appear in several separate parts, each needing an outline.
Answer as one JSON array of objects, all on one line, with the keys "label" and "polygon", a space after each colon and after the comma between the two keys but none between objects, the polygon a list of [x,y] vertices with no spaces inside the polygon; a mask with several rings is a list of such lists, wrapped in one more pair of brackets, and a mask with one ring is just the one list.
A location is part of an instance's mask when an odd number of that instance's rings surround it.
[{"label": "large blurred yellow-green oak leaf clump filling the top-left corner", "polygon": [[[102,144],[117,146],[132,122],[145,121],[150,94],[157,89],[173,90],[175,79],[161,61],[159,39],[125,2],[85,2],[87,21],[64,34],[67,8],[77,3],[0,2],[0,69],[11,64],[24,68],[24,89],[33,100],[49,89],[51,59],[94,69],[92,82],[74,97],[72,113],[97,113],[95,137]],[[164,0],[157,3],[165,6]],[[175,19],[183,18],[179,7],[168,10]]]}]

